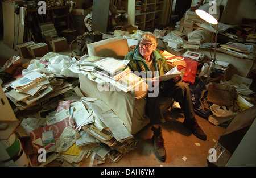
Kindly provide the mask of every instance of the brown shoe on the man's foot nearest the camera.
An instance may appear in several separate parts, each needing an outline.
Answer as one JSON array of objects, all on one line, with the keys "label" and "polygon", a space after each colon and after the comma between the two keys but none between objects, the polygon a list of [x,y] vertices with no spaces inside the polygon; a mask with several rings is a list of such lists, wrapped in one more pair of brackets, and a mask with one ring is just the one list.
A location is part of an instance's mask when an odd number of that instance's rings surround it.
[{"label": "brown shoe on the man's foot nearest the camera", "polygon": [[154,135],[152,137],[154,149],[153,152],[161,162],[166,161],[166,148],[164,148],[164,140],[162,137],[162,130],[159,127],[159,129],[155,129],[152,127],[152,131],[154,131]]}]

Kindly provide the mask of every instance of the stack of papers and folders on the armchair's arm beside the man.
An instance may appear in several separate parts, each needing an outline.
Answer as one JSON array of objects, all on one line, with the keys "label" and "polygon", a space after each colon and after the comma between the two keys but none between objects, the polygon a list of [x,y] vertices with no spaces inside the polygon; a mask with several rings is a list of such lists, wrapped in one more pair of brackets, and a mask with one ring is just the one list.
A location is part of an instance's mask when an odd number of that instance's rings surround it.
[{"label": "stack of papers and folders on the armchair's arm beside the man", "polygon": [[100,64],[97,63],[97,67],[94,69],[97,72],[97,77],[105,83],[128,92],[143,80],[131,73],[131,69],[126,66],[127,62],[129,61],[108,58],[105,61],[100,61]]}]

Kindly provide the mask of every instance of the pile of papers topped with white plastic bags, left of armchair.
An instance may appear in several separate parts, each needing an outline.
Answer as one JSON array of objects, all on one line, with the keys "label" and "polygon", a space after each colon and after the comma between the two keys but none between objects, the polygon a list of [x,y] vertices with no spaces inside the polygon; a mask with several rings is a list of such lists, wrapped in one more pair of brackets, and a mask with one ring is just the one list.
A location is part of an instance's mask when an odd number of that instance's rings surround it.
[{"label": "pile of papers topped with white plastic bags, left of armchair", "polygon": [[67,68],[75,61],[53,52],[47,53],[40,60],[32,59],[26,69],[2,84],[3,91],[19,110],[39,105],[75,87],[66,80],[67,77],[75,76]]}]

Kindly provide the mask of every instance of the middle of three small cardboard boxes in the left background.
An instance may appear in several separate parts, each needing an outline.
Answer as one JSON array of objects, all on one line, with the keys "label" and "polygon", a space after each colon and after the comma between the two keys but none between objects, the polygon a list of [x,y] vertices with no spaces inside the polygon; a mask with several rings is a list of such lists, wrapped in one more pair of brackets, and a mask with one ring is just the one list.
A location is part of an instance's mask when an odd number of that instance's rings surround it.
[{"label": "middle of three small cardboard boxes in the left background", "polygon": [[27,46],[28,55],[34,59],[36,57],[43,57],[49,52],[48,45],[46,43],[36,43]]}]

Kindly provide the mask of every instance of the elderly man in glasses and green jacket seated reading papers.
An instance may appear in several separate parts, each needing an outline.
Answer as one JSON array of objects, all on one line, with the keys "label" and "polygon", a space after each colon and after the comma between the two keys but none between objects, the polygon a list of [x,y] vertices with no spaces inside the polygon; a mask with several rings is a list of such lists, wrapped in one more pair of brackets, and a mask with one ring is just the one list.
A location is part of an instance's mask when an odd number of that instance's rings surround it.
[{"label": "elderly man in glasses and green jacket seated reading papers", "polygon": [[[160,119],[162,117],[160,111],[160,96],[171,96],[176,102],[179,102],[181,110],[184,113],[183,125],[192,133],[202,140],[206,140],[207,136],[201,127],[197,124],[188,85],[181,82],[181,77],[175,77],[168,81],[158,80],[158,76],[169,71],[165,57],[156,49],[157,39],[151,32],[146,32],[138,39],[138,45],[132,51],[128,52],[125,60],[130,60],[129,67],[131,71],[139,72],[149,84],[146,114],[150,117],[152,131],[154,135],[155,156],[164,162],[166,160],[166,150],[164,148],[162,129],[160,127]],[[159,89],[159,93],[152,94],[154,89]]]}]

